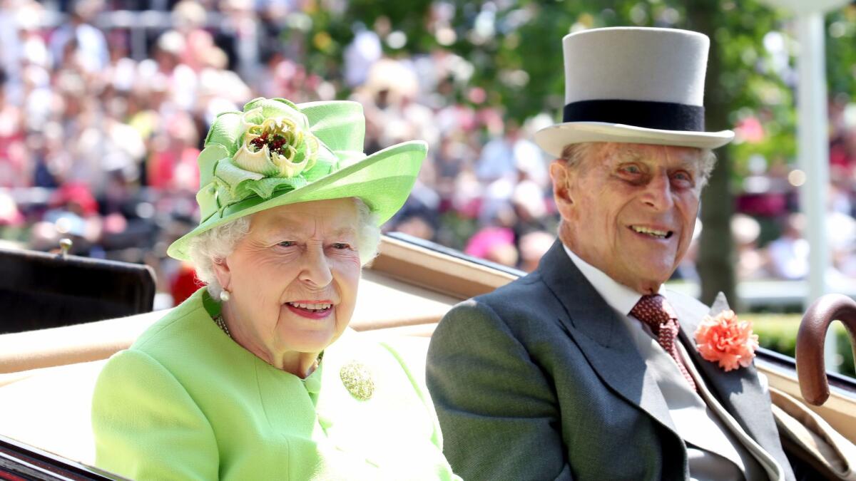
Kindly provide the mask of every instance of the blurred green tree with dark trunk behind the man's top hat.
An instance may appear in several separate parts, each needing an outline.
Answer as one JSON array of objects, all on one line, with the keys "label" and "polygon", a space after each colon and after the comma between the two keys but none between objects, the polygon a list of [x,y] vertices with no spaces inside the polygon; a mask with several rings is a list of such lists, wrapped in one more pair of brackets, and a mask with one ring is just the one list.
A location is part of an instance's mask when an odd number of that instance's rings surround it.
[{"label": "blurred green tree with dark trunk behind the man's top hat", "polygon": [[[441,4],[454,9],[449,27],[455,35],[454,41],[446,42],[449,45],[438,42],[437,23],[432,18]],[[736,299],[729,226],[734,193],[739,192],[753,155],[763,156],[770,165],[793,163],[795,157],[795,49],[785,13],[757,0],[356,0],[349,3],[345,15],[325,18],[314,28],[324,29],[338,45],[346,45],[353,35],[354,21],[371,26],[382,17],[407,37],[407,44],[399,49],[387,45],[391,55],[420,55],[443,48],[462,56],[473,64],[473,76],[458,88],[483,88],[490,92],[486,104],[501,106],[506,116],[519,121],[541,112],[550,112],[554,118],[561,113],[561,39],[571,31],[645,26],[687,28],[707,34],[711,39],[705,93],[708,130],[739,130],[749,119],[764,131],[763,137],[756,139],[746,139],[739,131],[733,144],[717,152],[719,162],[702,202],[704,230],[698,263],[702,298],[710,301],[723,291]],[[835,59],[830,64],[837,65],[830,74],[830,92],[853,90],[854,19],[853,7],[830,17],[830,21],[838,22],[838,36],[828,44],[830,60]],[[324,55],[331,53],[328,50]],[[459,94],[457,98],[467,96]]]}]

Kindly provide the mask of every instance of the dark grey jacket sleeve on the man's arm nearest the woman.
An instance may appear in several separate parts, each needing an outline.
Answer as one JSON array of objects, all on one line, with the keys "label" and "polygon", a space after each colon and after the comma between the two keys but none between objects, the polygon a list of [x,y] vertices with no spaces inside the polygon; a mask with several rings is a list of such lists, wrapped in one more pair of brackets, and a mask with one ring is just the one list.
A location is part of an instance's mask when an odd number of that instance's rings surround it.
[{"label": "dark grey jacket sleeve on the man's arm nearest the woman", "polygon": [[469,300],[446,314],[426,381],[461,478],[571,478],[550,381],[490,306]]}]

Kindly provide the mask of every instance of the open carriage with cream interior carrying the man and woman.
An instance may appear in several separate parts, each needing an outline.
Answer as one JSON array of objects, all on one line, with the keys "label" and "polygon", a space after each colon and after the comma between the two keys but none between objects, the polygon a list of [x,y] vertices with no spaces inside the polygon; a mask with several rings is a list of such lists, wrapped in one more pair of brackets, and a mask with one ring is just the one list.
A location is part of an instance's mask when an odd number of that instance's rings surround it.
[{"label": "open carriage with cream interior carrying the man and woman", "polygon": [[[351,328],[394,343],[414,372],[424,372],[428,340],[443,314],[521,274],[431,243],[384,237],[380,255],[364,270]],[[842,311],[845,301],[833,299],[807,316],[817,324],[812,332],[819,339],[830,316],[856,321],[856,304],[853,312]],[[105,359],[128,347],[163,314],[0,336],[0,479],[115,478],[90,467],[92,388]],[[823,347],[804,341],[799,348],[803,391],[794,359],[764,349],[756,358],[770,381],[783,445],[804,478],[856,470],[856,453],[842,442],[856,443],[856,380],[830,375],[829,399],[823,406],[811,405],[804,393],[813,402],[823,401],[825,378],[823,371],[809,372],[805,362],[822,365]],[[856,472],[849,475],[856,478]]]}]

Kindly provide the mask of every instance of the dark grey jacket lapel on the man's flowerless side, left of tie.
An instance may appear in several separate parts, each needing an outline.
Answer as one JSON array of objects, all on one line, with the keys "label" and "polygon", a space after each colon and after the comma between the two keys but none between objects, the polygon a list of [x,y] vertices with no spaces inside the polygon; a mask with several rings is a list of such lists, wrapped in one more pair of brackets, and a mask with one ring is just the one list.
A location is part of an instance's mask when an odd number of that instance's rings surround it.
[{"label": "dark grey jacket lapel on the man's flowerless side, left of tie", "polygon": [[591,286],[560,241],[544,254],[538,273],[564,306],[568,315],[559,321],[597,376],[677,436],[657,382],[645,368],[645,359],[639,355],[618,312]]}]

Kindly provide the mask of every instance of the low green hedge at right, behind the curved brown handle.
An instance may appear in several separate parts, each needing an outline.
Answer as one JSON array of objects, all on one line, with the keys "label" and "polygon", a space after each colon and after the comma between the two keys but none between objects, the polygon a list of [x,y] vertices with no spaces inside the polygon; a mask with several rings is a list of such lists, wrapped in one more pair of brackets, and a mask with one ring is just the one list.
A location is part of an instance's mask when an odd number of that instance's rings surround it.
[{"label": "low green hedge at right, behind the curved brown handle", "polygon": [[[752,319],[752,330],[758,335],[761,347],[766,347],[777,353],[794,357],[797,344],[797,331],[800,330],[799,314],[742,314],[741,318]],[[835,331],[836,350],[841,354],[841,373],[856,377],[853,366],[853,347],[850,345],[847,330],[841,323],[832,324]]]}]

